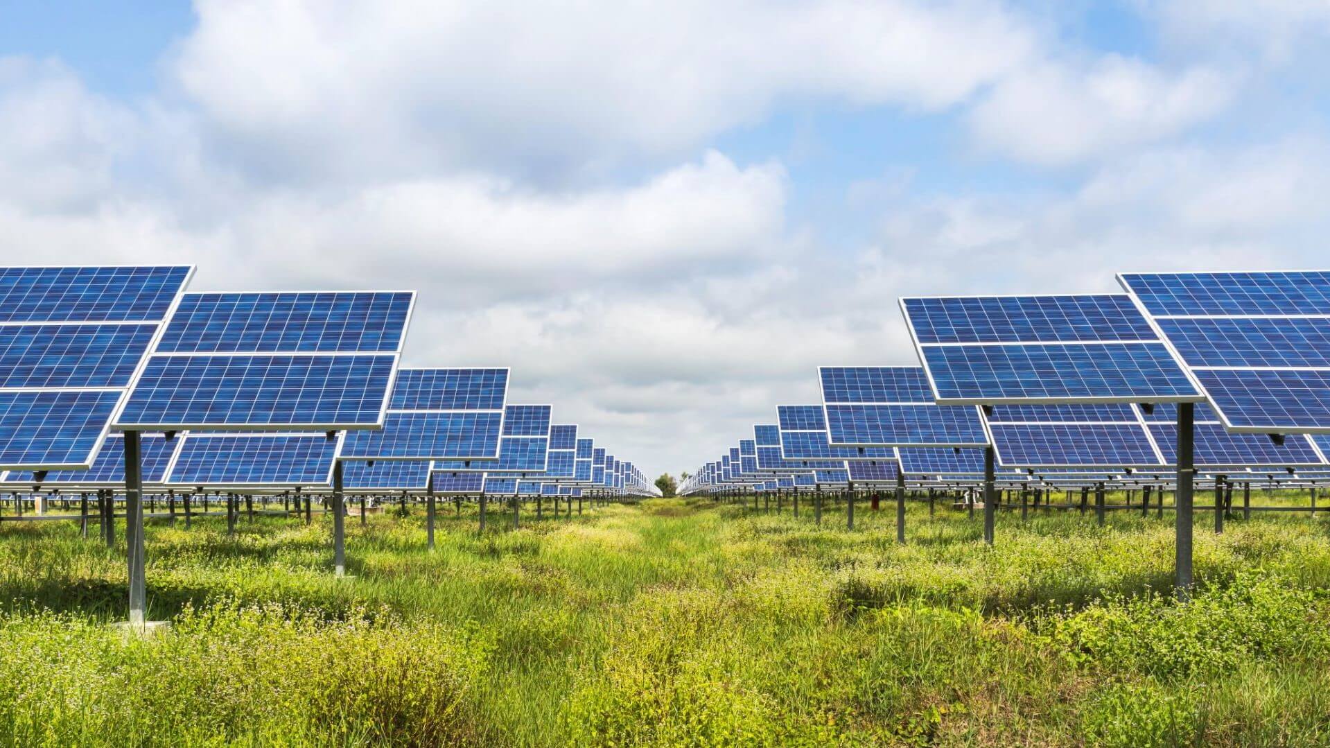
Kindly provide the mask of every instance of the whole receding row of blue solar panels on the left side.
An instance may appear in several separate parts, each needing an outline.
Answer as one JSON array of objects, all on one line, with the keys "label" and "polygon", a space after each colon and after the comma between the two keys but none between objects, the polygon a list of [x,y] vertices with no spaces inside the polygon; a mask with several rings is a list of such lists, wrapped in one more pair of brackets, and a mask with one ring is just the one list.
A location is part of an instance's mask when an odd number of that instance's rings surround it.
[{"label": "whole receding row of blue solar panels on the left side", "polygon": [[[0,268],[0,483],[649,492],[507,403],[507,369],[399,369],[414,291],[185,293],[190,266]],[[536,479],[540,480],[536,480]],[[545,484],[551,487],[545,487]]]}]

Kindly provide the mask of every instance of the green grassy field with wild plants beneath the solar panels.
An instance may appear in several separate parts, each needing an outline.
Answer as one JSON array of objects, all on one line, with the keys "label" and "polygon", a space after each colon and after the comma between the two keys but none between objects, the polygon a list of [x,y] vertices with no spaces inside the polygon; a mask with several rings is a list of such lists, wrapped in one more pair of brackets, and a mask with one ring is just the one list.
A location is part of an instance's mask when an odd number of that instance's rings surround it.
[{"label": "green grassy field with wild plants beneath the solar panels", "polygon": [[[708,499],[475,532],[468,508],[148,531],[0,524],[0,745],[1326,745],[1330,520],[998,520],[890,503],[802,516]],[[497,518],[496,518],[497,519]],[[527,512],[527,519],[532,519]],[[497,522],[496,522],[497,523]]]}]

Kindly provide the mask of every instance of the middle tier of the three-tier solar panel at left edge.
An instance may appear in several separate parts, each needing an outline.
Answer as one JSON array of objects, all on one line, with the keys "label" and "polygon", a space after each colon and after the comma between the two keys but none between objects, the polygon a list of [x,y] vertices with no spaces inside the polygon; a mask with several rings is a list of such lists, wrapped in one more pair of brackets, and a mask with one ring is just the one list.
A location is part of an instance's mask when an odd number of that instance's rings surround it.
[{"label": "middle tier of the three-tier solar panel at left edge", "polygon": [[125,387],[157,325],[0,326],[0,387]]}]

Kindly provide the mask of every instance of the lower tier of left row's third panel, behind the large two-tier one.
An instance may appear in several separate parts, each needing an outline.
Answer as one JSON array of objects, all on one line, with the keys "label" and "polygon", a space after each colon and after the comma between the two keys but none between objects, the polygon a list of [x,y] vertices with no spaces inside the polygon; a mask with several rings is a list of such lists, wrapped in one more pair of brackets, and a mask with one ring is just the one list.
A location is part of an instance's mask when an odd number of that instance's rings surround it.
[{"label": "lower tier of left row's third panel, behind the large two-tier one", "polygon": [[343,459],[489,459],[499,453],[497,411],[388,413],[383,430],[348,431]]}]

